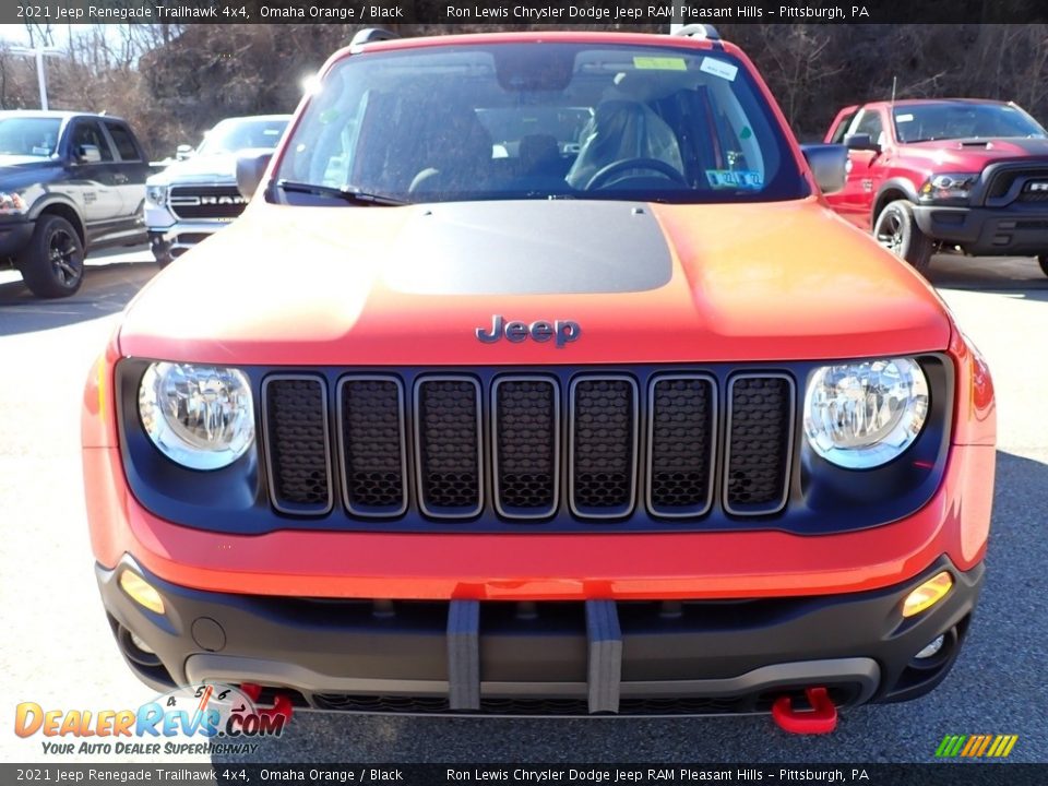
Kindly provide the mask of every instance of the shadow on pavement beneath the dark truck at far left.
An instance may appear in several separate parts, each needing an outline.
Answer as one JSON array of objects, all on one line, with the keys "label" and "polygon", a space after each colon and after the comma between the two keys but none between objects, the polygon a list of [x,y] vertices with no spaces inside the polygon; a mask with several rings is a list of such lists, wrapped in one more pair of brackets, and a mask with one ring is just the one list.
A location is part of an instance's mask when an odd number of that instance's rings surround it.
[{"label": "shadow on pavement beneath the dark truck at far left", "polygon": [[0,284],[0,335],[63,327],[122,311],[156,272],[153,264],[88,264],[80,291],[57,300],[34,297],[21,281]]}]

